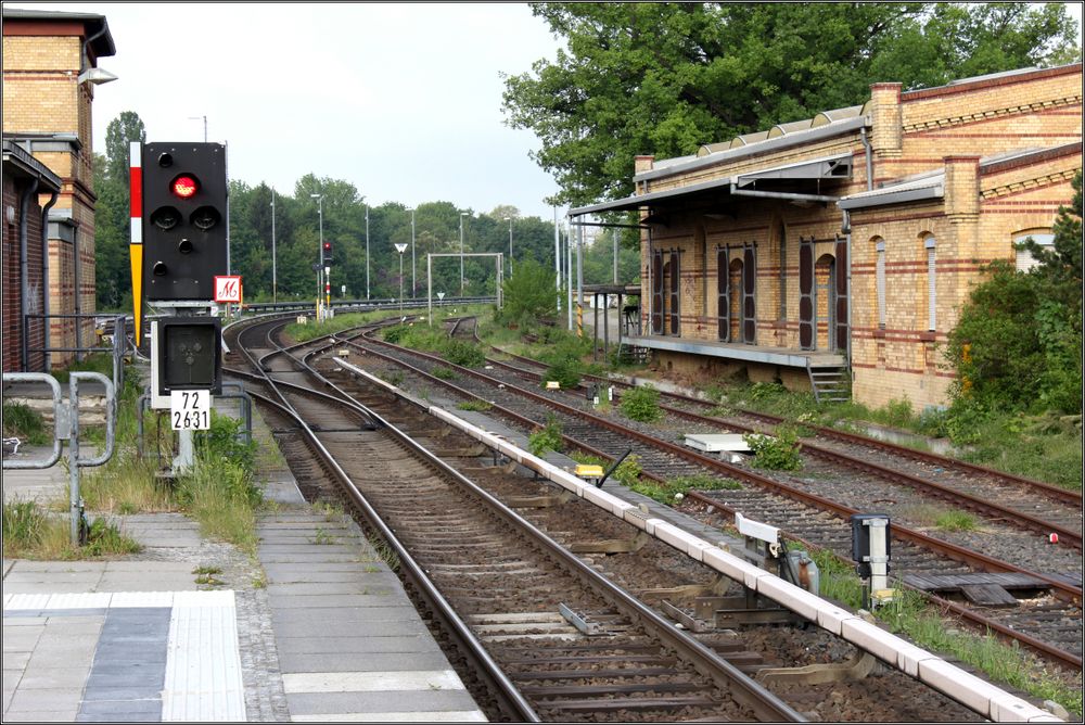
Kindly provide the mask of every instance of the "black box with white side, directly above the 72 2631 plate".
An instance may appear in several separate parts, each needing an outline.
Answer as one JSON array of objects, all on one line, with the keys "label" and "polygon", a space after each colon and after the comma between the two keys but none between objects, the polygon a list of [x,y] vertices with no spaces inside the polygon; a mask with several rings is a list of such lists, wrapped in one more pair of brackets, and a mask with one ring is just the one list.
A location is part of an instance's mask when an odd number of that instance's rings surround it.
[{"label": "black box with white side, directly above the 72 2631 plate", "polygon": [[[152,322],[152,392],[169,407],[173,391],[222,393],[222,323],[217,317],[164,317]],[[159,407],[155,405],[154,407]]]}]

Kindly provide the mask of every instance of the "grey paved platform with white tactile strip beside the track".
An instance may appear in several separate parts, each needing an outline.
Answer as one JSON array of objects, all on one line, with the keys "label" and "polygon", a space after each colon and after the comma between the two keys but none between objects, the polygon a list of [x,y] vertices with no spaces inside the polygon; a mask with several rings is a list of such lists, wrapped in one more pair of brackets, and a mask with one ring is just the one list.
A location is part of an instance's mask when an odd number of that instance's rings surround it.
[{"label": "grey paved platform with white tactile strip beside the track", "polygon": [[[124,560],[3,561],[3,722],[486,720],[358,526],[304,503],[258,415],[254,436],[258,562],[180,513],[113,517],[144,546]],[[3,499],[67,484],[8,470]]]}]

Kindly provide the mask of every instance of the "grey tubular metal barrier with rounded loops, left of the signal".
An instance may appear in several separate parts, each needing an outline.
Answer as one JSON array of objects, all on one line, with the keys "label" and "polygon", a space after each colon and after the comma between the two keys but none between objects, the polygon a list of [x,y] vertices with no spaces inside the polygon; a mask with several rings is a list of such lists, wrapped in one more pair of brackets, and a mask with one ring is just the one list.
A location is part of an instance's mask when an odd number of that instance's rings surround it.
[{"label": "grey tubular metal barrier with rounded loops, left of the signal", "polygon": [[[116,419],[117,402],[116,387],[113,381],[100,372],[76,371],[68,377],[68,402],[64,404],[61,397],[61,385],[52,376],[43,372],[5,372],[4,383],[8,382],[43,382],[50,386],[53,393],[53,453],[49,458],[42,460],[8,460],[3,461],[5,469],[46,469],[52,468],[60,459],[61,441],[68,440],[68,473],[71,485],[68,486],[69,517],[72,546],[79,546],[85,542],[86,520],[84,517],[84,501],[79,493],[79,469],[92,466],[101,466],[113,457],[113,449],[116,443]],[[79,457],[79,382],[97,381],[105,386],[105,450],[92,458]]]}]

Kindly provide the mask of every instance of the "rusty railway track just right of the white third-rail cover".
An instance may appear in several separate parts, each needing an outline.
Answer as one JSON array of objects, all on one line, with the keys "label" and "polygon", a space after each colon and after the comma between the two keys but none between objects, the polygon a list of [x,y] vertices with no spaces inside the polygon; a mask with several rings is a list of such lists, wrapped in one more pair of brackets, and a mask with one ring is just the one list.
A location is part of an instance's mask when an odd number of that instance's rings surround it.
[{"label": "rusty railway track just right of the white third-rail cover", "polygon": [[[429,367],[448,367],[445,360],[426,359],[418,353],[410,351],[393,349],[386,343],[380,343],[381,354],[388,355],[390,359],[397,359],[399,362],[409,362],[422,370]],[[366,349],[376,353],[372,344],[367,344]],[[495,371],[487,370],[486,374],[465,369],[457,370],[457,386],[462,389],[465,395],[475,395],[486,400],[499,402],[507,409],[502,416],[515,418],[519,415],[519,424],[532,430],[544,424],[549,416],[557,415],[562,422],[562,430],[565,433],[570,445],[579,446],[595,455],[600,455],[608,459],[614,459],[622,451],[630,447],[628,435],[636,434],[647,437],[635,445],[646,472],[659,480],[673,479],[678,475],[691,475],[706,470],[716,475],[738,478],[763,487],[761,493],[754,493],[753,487],[748,486],[743,492],[740,506],[741,510],[755,511],[753,514],[760,520],[778,525],[781,530],[796,538],[808,540],[817,546],[828,548],[843,558],[850,555],[850,533],[846,521],[841,521],[840,517],[847,517],[856,509],[842,506],[825,496],[804,492],[799,487],[780,483],[763,476],[754,471],[728,466],[718,460],[705,459],[691,451],[684,450],[674,444],[666,444],[660,441],[659,430],[651,432],[618,432],[625,427],[614,423],[612,420],[604,420],[600,417],[587,417],[584,410],[578,410],[570,405],[571,400],[578,400],[577,396],[556,394],[552,392],[538,393],[515,390],[516,385],[509,378],[495,374]],[[447,384],[436,379],[429,379],[424,385]],[[501,386],[501,387],[498,387]],[[471,389],[471,392],[468,392]],[[534,400],[525,402],[524,395],[534,396]],[[561,398],[559,400],[558,398]],[[584,404],[580,404],[584,405]],[[560,412],[556,410],[561,407]],[[608,430],[609,429],[609,430]],[[591,441],[586,444],[584,441]],[[636,448],[636,446],[642,446]],[[660,447],[667,448],[664,455],[660,454]],[[865,491],[869,495],[869,484],[865,484]],[[774,497],[784,493],[789,498],[799,496],[807,504],[796,508],[794,503],[780,504]],[[731,492],[720,492],[712,496],[726,497]],[[898,495],[898,494],[894,494]],[[738,496],[736,494],[736,496]],[[758,497],[758,498],[755,498]],[[702,504],[713,504],[714,508],[720,511],[732,511],[726,500],[705,498]],[[827,517],[822,511],[830,510],[834,517]],[[767,516],[762,516],[765,511]],[[803,527],[800,522],[810,522],[812,530]],[[993,559],[985,555],[969,549],[966,546],[953,545],[947,542],[932,539],[932,537],[920,532],[909,531],[903,526],[896,526],[895,533],[898,538],[904,538],[894,544],[894,573],[908,575],[961,575],[978,571],[987,572],[1018,572],[1027,581],[1035,581],[1034,587],[1027,594],[1038,596],[1021,599],[1020,603],[1012,610],[993,609],[987,607],[969,606],[966,602],[948,601],[941,599],[940,603],[953,609],[960,615],[980,624],[990,626],[995,632],[1017,639],[1018,641],[1039,651],[1045,657],[1070,666],[1081,667],[1081,588],[1075,586],[1073,580],[1070,582],[1062,577],[1052,577],[1026,570],[1019,565],[1013,565],[998,559]],[[919,543],[923,549],[916,549],[912,546]],[[931,550],[939,551],[936,556]],[[1045,550],[1045,555],[1050,549]],[[1064,551],[1060,556],[1065,556]],[[1062,560],[1060,560],[1062,561]],[[1080,560],[1075,560],[1080,567]],[[1062,565],[1060,563],[1060,565]],[[929,580],[928,580],[929,581]],[[1004,582],[1009,582],[1004,578]],[[1043,594],[1054,592],[1057,596]]]}]

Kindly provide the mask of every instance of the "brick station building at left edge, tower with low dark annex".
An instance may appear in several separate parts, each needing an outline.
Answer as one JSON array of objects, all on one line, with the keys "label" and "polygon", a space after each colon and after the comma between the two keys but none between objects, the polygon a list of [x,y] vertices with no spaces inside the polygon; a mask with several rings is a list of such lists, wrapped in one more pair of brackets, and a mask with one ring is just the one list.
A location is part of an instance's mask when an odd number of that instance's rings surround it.
[{"label": "brick station building at left edge, tower with low dark annex", "polygon": [[[103,15],[3,9],[4,371],[40,371],[74,356],[34,352],[43,347],[42,318],[27,320],[24,344],[24,315],[94,313],[91,106],[94,85],[113,78],[98,61],[115,52]],[[31,177],[39,187],[27,209],[30,241],[23,259],[18,195]],[[51,188],[51,180],[59,188]],[[41,253],[42,209],[48,255]],[[24,266],[27,272],[21,275]],[[40,284],[43,275],[48,294]],[[92,319],[77,326],[75,319],[52,317],[48,327],[50,347],[93,345]]]}]

